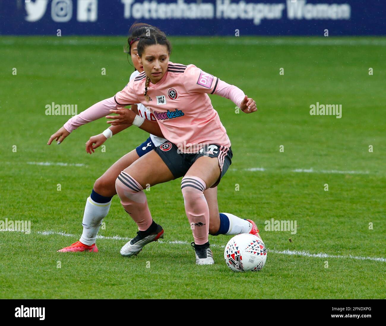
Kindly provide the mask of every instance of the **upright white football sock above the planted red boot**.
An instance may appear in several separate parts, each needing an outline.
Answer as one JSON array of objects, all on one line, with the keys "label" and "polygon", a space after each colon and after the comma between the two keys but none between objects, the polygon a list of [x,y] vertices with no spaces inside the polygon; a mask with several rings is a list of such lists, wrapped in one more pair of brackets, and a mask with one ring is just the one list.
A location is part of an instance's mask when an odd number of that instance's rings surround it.
[{"label": "upright white football sock above the planted red boot", "polygon": [[111,200],[108,203],[100,204],[92,200],[91,197],[87,198],[82,222],[83,233],[79,240],[81,243],[88,246],[95,243],[99,228],[110,209],[110,205]]}]

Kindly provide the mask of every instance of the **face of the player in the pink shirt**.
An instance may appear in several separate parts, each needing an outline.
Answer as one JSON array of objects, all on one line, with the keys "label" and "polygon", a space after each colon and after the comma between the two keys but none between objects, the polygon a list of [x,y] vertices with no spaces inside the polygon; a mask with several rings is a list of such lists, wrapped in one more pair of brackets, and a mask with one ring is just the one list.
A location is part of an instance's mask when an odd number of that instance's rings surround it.
[{"label": "face of the player in the pink shirt", "polygon": [[143,65],[146,76],[153,84],[162,79],[168,71],[169,53],[168,47],[161,44],[149,45],[145,48],[139,62]]}]

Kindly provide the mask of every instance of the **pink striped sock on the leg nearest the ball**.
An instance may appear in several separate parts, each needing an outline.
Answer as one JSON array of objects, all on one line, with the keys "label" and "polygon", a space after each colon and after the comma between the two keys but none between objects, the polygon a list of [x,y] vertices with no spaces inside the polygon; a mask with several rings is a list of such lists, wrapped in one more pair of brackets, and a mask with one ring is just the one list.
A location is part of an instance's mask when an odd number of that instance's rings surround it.
[{"label": "pink striped sock on the leg nearest the ball", "polygon": [[207,185],[202,179],[191,175],[186,175],[181,181],[185,212],[186,216],[188,216],[196,245],[203,245],[208,242],[209,207],[203,194],[206,187]]}]

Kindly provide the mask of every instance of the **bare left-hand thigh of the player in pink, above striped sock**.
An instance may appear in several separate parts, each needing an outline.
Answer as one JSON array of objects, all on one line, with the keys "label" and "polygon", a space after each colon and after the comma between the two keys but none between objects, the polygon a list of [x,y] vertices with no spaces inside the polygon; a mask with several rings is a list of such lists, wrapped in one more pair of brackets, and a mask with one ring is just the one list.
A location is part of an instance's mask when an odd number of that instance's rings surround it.
[{"label": "bare left-hand thigh of the player in pink, above striped sock", "polygon": [[124,171],[131,175],[142,188],[174,179],[168,166],[154,150],[141,156]]}]

